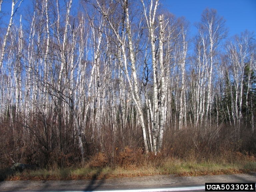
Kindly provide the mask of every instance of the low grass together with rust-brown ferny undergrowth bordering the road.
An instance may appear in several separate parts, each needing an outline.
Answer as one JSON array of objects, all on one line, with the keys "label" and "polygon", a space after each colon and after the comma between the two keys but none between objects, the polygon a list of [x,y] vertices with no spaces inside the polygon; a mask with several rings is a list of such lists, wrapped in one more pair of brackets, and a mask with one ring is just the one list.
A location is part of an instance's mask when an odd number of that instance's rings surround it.
[{"label": "low grass together with rust-brown ferny undergrowth bordering the road", "polygon": [[[232,160],[232,162],[230,161]],[[235,174],[256,171],[254,155],[226,151],[211,160],[179,159],[166,156],[164,152],[144,154],[141,148],[126,147],[113,159],[105,153],[97,153],[80,167],[25,170],[8,175],[5,180],[78,180],[109,179],[120,177],[175,174],[177,176],[199,176]]]}]

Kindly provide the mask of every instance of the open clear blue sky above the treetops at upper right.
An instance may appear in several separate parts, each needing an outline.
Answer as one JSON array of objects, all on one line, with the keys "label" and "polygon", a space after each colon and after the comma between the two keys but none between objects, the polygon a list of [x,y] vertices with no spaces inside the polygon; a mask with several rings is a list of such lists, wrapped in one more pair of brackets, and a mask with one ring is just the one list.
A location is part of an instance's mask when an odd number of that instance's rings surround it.
[{"label": "open clear blue sky above the treetops at upper right", "polygon": [[200,21],[206,7],[216,9],[226,19],[229,36],[246,29],[256,33],[256,0],[164,0],[163,5],[177,17],[190,21],[191,35],[197,31],[194,22]]}]

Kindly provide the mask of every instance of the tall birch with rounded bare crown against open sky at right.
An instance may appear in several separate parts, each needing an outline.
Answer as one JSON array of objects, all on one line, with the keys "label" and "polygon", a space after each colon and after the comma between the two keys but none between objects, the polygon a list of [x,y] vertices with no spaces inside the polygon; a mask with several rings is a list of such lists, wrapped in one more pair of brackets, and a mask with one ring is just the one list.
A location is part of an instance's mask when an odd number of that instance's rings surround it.
[{"label": "tall birch with rounded bare crown against open sky at right", "polygon": [[[203,100],[200,100],[199,107],[199,114],[201,113],[202,121],[204,113],[206,118],[208,118],[209,110],[211,110],[214,57],[218,53],[221,40],[227,36],[227,28],[225,27],[224,18],[217,14],[217,10],[209,10],[208,8],[203,11],[201,22],[197,23],[196,27],[198,28],[199,38],[203,46],[202,60],[200,62],[205,66],[202,72],[205,71],[206,74],[202,78],[206,78],[205,80],[207,80],[207,96]],[[200,58],[200,55],[198,55],[198,58]],[[201,85],[202,83],[203,81]],[[200,97],[202,98],[202,95]],[[197,98],[199,98],[199,94],[197,94]],[[204,106],[204,102],[206,102],[206,106]],[[204,110],[206,111],[204,112]]]}]

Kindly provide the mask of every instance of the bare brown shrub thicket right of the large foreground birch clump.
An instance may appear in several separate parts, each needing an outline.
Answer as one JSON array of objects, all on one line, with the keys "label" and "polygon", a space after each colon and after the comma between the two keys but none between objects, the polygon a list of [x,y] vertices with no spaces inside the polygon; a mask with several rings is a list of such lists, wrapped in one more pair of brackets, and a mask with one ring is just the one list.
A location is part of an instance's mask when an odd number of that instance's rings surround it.
[{"label": "bare brown shrub thicket right of the large foreground birch clump", "polygon": [[[240,132],[227,124],[211,127],[187,127],[180,130],[166,129],[164,148],[167,156],[186,161],[252,160],[255,154],[255,134],[242,127]],[[250,155],[249,155],[250,154]]]}]

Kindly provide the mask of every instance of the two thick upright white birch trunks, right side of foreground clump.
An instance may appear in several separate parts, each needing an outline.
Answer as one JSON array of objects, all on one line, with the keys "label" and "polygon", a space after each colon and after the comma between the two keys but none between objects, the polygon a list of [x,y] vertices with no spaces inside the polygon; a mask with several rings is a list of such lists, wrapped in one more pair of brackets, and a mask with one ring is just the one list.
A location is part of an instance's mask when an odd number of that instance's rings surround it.
[{"label": "two thick upright white birch trunks, right side of foreground clump", "polygon": [[[146,2],[141,0],[144,17],[148,29],[148,39],[150,42],[151,52],[149,57],[152,62],[152,135],[153,143],[152,149],[156,154],[161,151],[163,133],[166,125],[166,111],[167,111],[167,84],[168,80],[168,59],[165,58],[171,51],[172,38],[175,36],[174,31],[176,26],[173,24],[172,17],[164,15],[157,15],[159,1]],[[169,16],[169,15],[168,15]],[[169,23],[169,24],[168,24]],[[171,45],[171,46],[170,46]],[[167,50],[167,51],[166,51]],[[165,53],[165,54],[164,54]],[[148,98],[146,98],[148,100]],[[151,101],[146,101],[146,103]],[[151,114],[151,113],[150,113]]]}]

